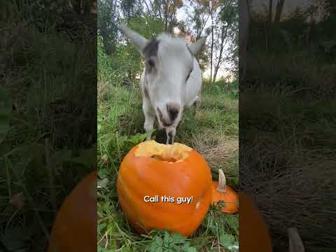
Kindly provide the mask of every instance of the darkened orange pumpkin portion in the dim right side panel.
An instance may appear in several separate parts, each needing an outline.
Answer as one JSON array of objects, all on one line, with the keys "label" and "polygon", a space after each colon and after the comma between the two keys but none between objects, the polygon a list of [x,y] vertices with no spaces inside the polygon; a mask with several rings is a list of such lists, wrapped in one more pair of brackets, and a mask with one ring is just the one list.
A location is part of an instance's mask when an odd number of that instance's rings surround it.
[{"label": "darkened orange pumpkin portion in the dim right side panel", "polygon": [[272,252],[268,225],[254,202],[239,192],[239,251]]}]

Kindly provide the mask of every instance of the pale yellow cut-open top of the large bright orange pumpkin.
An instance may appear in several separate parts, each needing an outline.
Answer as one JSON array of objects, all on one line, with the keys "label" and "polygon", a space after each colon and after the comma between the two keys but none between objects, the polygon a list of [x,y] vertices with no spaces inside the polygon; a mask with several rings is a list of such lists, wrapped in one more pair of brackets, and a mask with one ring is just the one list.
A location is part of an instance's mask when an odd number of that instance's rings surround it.
[{"label": "pale yellow cut-open top of the large bright orange pumpkin", "polygon": [[166,162],[180,162],[187,158],[193,149],[179,143],[172,145],[159,144],[156,141],[144,141],[135,151],[136,157],[154,158]]}]

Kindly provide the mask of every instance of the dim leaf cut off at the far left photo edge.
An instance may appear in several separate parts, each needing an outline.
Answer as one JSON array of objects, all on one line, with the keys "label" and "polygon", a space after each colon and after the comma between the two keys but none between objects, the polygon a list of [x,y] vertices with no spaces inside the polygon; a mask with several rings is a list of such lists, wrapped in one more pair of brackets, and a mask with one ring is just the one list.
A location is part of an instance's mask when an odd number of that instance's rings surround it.
[{"label": "dim leaf cut off at the far left photo edge", "polygon": [[0,143],[5,139],[10,125],[12,99],[3,87],[0,87]]}]

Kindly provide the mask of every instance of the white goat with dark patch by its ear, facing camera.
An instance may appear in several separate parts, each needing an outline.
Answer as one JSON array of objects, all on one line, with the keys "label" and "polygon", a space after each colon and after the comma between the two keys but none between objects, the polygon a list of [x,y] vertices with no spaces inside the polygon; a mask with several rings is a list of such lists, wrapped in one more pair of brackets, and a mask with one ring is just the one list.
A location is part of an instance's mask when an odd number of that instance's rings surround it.
[{"label": "white goat with dark patch by its ear, facing camera", "polygon": [[202,75],[195,55],[205,39],[187,45],[182,38],[161,34],[148,41],[125,26],[120,30],[146,58],[140,79],[144,129],[153,130],[156,119],[159,129],[166,131],[166,144],[173,144],[183,107],[190,107],[195,115],[200,106]]}]

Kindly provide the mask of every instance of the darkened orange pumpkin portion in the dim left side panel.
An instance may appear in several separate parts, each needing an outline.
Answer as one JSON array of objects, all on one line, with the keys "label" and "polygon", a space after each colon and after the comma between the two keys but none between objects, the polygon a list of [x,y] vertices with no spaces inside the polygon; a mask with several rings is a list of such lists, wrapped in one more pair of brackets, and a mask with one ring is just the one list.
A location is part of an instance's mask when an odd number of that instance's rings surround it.
[{"label": "darkened orange pumpkin portion in the dim left side panel", "polygon": [[52,226],[48,252],[97,251],[97,172],[66,197]]}]

